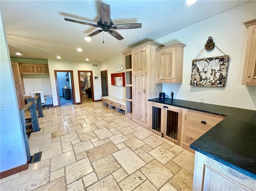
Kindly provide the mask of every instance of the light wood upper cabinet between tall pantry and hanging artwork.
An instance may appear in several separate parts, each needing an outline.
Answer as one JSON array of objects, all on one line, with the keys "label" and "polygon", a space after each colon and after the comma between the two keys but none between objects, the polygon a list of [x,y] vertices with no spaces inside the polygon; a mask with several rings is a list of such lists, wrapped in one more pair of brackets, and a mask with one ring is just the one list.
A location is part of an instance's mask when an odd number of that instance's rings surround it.
[{"label": "light wood upper cabinet between tall pantry and hanging artwork", "polygon": [[156,83],[182,83],[185,46],[182,43],[175,43],[156,49],[158,58]]}]

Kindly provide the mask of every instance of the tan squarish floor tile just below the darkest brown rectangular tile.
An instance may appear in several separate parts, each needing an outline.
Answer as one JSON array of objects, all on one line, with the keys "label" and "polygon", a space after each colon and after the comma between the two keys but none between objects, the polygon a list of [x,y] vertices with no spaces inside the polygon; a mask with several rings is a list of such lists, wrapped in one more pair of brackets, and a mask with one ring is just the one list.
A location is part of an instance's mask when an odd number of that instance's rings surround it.
[{"label": "tan squarish floor tile just below the darkest brown rectangular tile", "polygon": [[92,163],[94,171],[99,179],[109,175],[120,168],[120,165],[112,157],[112,155],[106,156]]}]

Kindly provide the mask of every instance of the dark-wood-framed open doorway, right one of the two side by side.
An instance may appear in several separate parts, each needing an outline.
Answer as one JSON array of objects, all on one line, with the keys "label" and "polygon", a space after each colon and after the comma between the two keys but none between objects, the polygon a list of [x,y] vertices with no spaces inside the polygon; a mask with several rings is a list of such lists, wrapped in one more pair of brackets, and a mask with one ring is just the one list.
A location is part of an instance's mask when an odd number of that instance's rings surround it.
[{"label": "dark-wood-framed open doorway, right one of the two side by side", "polygon": [[92,71],[78,71],[80,102],[94,102]]}]

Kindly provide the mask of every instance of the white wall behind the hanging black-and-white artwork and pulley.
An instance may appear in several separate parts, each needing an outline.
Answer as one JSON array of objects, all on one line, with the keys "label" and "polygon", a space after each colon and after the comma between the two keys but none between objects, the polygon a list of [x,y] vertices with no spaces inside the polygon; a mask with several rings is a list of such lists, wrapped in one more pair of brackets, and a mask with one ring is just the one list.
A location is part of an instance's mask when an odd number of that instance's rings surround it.
[{"label": "white wall behind the hanging black-and-white artwork and pulley", "polygon": [[[252,1],[157,39],[156,42],[164,45],[177,41],[186,44],[182,84],[164,84],[163,91],[170,96],[172,90],[176,99],[200,102],[200,97],[204,97],[205,103],[256,110],[256,86],[241,85],[247,37],[247,28],[243,23],[256,18],[255,8],[256,1]],[[190,87],[192,60],[202,50],[209,36],[231,59],[225,87]],[[210,53],[205,51],[200,58],[222,55],[215,48]]]}]

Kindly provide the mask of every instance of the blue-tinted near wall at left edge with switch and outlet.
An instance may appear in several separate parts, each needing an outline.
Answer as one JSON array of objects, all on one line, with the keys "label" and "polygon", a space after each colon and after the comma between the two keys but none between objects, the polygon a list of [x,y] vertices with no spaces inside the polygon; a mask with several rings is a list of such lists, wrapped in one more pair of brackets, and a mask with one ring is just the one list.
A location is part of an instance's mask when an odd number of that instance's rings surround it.
[{"label": "blue-tinted near wall at left edge with switch and outlet", "polygon": [[[6,110],[0,111],[0,171],[6,171],[27,161],[20,122],[17,96],[14,87],[10,54],[6,34],[0,16],[0,102]],[[13,150],[14,156],[7,157],[6,150]]]}]

